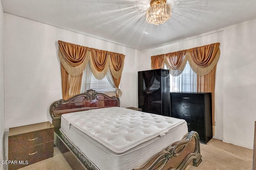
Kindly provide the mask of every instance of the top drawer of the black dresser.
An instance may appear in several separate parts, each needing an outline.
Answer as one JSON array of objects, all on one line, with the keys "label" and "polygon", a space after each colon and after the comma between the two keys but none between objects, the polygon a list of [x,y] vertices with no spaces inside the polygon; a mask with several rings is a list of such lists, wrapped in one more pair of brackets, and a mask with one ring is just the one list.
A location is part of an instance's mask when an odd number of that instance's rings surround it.
[{"label": "top drawer of the black dresser", "polygon": [[172,102],[189,102],[204,104],[203,94],[191,94],[191,93],[171,93]]}]

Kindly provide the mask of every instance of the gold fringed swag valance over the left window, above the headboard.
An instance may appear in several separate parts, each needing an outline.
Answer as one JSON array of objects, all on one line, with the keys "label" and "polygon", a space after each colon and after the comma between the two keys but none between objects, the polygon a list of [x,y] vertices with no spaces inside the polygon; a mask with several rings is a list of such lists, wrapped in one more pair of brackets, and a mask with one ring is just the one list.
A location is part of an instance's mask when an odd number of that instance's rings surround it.
[{"label": "gold fringed swag valance over the left window, above the headboard", "polygon": [[120,78],[125,55],[58,41],[58,57],[66,72],[71,76],[82,74],[88,62],[96,79],[106,76],[108,68],[114,78]]}]

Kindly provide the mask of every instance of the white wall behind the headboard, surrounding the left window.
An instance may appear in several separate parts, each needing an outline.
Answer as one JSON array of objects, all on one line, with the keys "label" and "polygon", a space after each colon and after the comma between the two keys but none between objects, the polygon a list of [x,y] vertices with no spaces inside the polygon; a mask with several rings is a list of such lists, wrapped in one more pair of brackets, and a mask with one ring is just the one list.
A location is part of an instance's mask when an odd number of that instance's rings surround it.
[{"label": "white wall behind the headboard, surrounding the left window", "polygon": [[50,121],[49,106],[62,98],[58,40],[126,55],[121,107],[137,106],[136,66],[130,49],[4,13],[5,127]]}]

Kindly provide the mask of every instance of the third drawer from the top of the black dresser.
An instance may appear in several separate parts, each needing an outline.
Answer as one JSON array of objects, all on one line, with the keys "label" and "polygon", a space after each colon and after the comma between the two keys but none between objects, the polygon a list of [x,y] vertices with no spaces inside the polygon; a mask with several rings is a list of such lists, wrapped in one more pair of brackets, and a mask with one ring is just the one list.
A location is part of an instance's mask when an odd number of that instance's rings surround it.
[{"label": "third drawer from the top of the black dresser", "polygon": [[198,113],[194,111],[172,109],[172,117],[184,119],[186,121],[200,121],[204,122],[204,113]]}]

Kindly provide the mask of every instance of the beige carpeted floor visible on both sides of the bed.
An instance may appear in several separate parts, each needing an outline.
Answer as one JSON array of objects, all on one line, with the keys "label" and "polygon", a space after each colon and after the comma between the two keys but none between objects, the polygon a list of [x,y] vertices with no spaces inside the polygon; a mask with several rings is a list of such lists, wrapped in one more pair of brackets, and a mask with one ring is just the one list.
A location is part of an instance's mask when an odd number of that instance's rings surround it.
[{"label": "beige carpeted floor visible on both sides of the bed", "polygon": [[[202,162],[198,167],[189,164],[186,170],[251,170],[253,150],[211,139],[200,144]],[[20,170],[72,170],[61,152],[54,147],[54,157]]]}]

